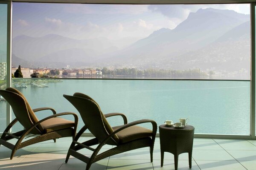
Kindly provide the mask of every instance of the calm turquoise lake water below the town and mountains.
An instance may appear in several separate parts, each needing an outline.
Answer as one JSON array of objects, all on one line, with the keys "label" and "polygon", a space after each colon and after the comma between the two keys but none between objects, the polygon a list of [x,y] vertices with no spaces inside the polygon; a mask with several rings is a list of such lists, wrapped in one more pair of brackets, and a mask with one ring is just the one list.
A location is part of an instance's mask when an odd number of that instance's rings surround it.
[{"label": "calm turquoise lake water below the town and mountains", "polygon": [[[78,113],[62,95],[81,92],[95,99],[103,113],[125,113],[128,122],[153,119],[159,126],[165,120],[178,122],[179,118],[189,118],[188,124],[195,127],[195,133],[250,134],[249,81],[63,79],[44,83],[49,87],[17,88],[32,108],[52,107],[58,113]],[[3,131],[6,102],[0,102],[0,110]],[[50,115],[45,111],[36,114],[39,119]],[[109,122],[115,126],[122,119],[110,118]],[[82,126],[79,118],[79,129]]]}]

